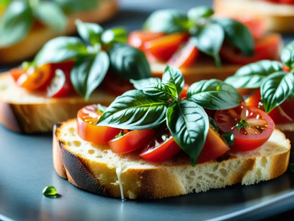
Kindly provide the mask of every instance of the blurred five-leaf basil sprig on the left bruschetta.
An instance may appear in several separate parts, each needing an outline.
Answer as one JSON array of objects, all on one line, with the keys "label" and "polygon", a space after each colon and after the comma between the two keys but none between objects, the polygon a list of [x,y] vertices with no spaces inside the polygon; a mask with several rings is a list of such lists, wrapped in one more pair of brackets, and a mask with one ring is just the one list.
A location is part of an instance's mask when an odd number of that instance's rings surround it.
[{"label": "blurred five-leaf basil sprig on the left bruschetta", "polygon": [[127,80],[151,76],[150,66],[143,52],[121,43],[127,39],[126,31],[121,28],[104,31],[98,24],[83,23],[81,20],[76,20],[75,23],[82,39],[51,39],[38,52],[34,63],[40,66],[74,60],[70,74],[71,83],[85,100],[101,84],[109,68]]}]

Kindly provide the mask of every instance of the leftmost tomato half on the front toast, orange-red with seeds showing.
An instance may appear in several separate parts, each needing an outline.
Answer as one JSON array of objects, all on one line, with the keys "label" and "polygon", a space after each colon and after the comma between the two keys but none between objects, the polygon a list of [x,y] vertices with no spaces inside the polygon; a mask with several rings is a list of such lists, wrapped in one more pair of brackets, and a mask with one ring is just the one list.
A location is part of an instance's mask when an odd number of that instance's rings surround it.
[{"label": "leftmost tomato half on the front toast, orange-red with seeds showing", "polygon": [[78,135],[83,140],[95,144],[106,144],[121,131],[118,128],[96,126],[101,115],[96,104],[88,105],[78,111]]}]

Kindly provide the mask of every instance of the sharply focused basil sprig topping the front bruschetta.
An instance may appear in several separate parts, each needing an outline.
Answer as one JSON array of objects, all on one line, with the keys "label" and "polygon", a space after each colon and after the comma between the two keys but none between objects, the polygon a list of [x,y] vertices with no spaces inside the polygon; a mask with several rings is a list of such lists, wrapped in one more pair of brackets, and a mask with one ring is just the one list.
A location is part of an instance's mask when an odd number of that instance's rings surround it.
[{"label": "sharply focused basil sprig topping the front bruschetta", "polygon": [[[166,123],[176,143],[189,154],[192,165],[195,165],[203,149],[210,122],[217,128],[216,123],[208,118],[203,107],[221,109],[220,104],[216,104],[216,108],[212,107],[214,101],[211,102],[210,99],[213,100],[213,96],[222,100],[224,109],[228,108],[226,103],[230,107],[236,107],[241,102],[235,88],[219,80],[213,81],[216,84],[207,83],[207,86],[202,85],[205,91],[200,90],[201,93],[215,90],[206,100],[180,99],[179,95],[185,84],[183,75],[179,69],[168,65],[161,80],[159,78],[131,80],[137,90],[127,91],[117,97],[102,114],[97,125],[143,130]],[[192,90],[189,92],[191,97],[194,96],[194,92],[198,94],[198,90]],[[230,99],[234,100],[230,101]]]}]

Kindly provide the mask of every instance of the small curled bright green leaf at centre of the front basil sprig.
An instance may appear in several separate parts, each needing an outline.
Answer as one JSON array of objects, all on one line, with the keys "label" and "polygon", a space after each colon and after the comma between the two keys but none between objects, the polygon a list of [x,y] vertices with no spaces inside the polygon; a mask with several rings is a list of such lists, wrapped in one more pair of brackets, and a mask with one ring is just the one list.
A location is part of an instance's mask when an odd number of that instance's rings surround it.
[{"label": "small curled bright green leaf at centre of the front basil sprig", "polygon": [[173,83],[158,83],[155,86],[143,88],[143,92],[144,94],[159,100],[178,99],[176,85]]}]

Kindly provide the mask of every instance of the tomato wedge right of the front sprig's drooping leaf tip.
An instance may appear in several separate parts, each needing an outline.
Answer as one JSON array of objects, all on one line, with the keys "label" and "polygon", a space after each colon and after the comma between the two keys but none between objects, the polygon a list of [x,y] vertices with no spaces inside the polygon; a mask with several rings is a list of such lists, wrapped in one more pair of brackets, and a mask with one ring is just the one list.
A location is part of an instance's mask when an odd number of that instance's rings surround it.
[{"label": "tomato wedge right of the front sprig's drooping leaf tip", "polygon": [[229,149],[222,138],[213,129],[209,128],[205,144],[196,163],[201,164],[216,159],[225,154]]}]

